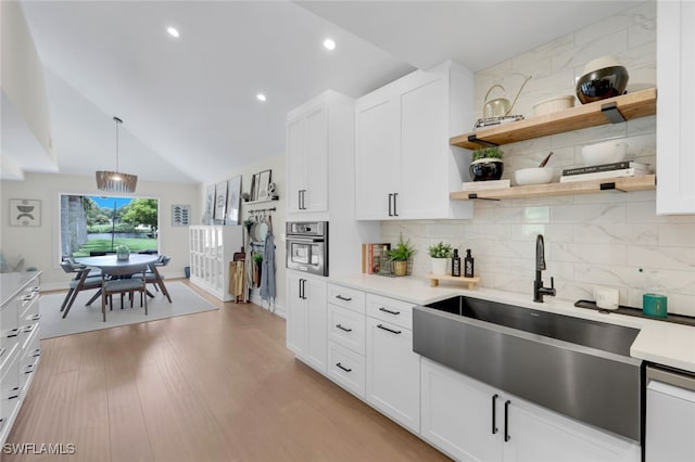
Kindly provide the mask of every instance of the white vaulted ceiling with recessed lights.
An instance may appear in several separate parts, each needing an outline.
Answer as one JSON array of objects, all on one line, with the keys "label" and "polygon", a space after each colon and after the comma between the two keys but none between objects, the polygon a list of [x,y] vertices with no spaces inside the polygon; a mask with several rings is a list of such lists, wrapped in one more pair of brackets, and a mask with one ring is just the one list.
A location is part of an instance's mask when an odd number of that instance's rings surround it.
[{"label": "white vaulted ceiling with recessed lights", "polygon": [[636,3],[25,0],[54,159],[29,163],[8,137],[2,155],[26,171],[112,169],[118,116],[121,170],[208,182],[281,153],[287,113],[325,89],[357,98],[447,59],[479,70]]}]

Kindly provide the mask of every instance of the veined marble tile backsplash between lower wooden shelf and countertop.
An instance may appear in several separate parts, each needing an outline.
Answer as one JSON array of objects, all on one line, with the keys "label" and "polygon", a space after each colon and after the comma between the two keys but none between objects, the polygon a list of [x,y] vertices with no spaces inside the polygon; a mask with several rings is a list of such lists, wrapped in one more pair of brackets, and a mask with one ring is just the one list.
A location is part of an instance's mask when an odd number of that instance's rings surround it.
[{"label": "veined marble tile backsplash between lower wooden shelf and countertop", "polygon": [[444,241],[463,255],[472,251],[482,286],[531,297],[535,236],[543,234],[543,279],[555,278],[558,298],[593,300],[594,288],[611,287],[622,305],[641,307],[643,293],[658,292],[670,312],[695,316],[695,216],[657,216],[655,192],[573,198],[480,201],[472,220],[384,221],[381,236],[415,244],[415,275],[430,272],[427,248]]}]

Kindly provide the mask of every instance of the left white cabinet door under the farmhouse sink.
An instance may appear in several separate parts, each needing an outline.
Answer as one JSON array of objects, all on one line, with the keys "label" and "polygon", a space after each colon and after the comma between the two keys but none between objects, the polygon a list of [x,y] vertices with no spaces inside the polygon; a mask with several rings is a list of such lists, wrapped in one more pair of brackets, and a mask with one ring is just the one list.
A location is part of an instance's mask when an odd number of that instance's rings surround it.
[{"label": "left white cabinet door under the farmhouse sink", "polygon": [[460,461],[502,460],[504,397],[422,358],[421,436]]}]

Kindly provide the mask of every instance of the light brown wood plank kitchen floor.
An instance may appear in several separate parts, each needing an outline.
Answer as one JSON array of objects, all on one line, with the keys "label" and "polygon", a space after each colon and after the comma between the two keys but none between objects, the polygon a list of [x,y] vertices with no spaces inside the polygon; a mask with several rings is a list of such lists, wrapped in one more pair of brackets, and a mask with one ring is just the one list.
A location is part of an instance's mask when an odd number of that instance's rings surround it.
[{"label": "light brown wood plank kitchen floor", "polygon": [[8,442],[74,444],[75,454],[0,459],[446,460],[296,361],[283,319],[206,298],[220,309],[41,341]]}]

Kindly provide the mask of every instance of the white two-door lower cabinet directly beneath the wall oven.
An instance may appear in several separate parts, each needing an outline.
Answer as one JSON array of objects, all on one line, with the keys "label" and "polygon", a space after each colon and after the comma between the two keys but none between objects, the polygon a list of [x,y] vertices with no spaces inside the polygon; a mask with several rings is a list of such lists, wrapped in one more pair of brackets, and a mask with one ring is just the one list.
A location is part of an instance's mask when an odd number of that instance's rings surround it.
[{"label": "white two-door lower cabinet directly beneath the wall oven", "polygon": [[326,280],[287,272],[287,347],[326,374]]}]

